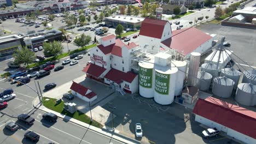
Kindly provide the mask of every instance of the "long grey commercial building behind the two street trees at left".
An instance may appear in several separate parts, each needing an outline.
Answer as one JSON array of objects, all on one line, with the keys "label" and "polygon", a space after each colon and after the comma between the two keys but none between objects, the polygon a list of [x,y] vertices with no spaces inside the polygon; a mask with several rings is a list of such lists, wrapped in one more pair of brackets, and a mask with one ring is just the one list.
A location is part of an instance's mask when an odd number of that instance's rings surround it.
[{"label": "long grey commercial building behind the two street trees at left", "polygon": [[42,46],[44,42],[62,40],[62,32],[57,29],[50,29],[39,33],[28,34],[24,42],[28,49]]}]

